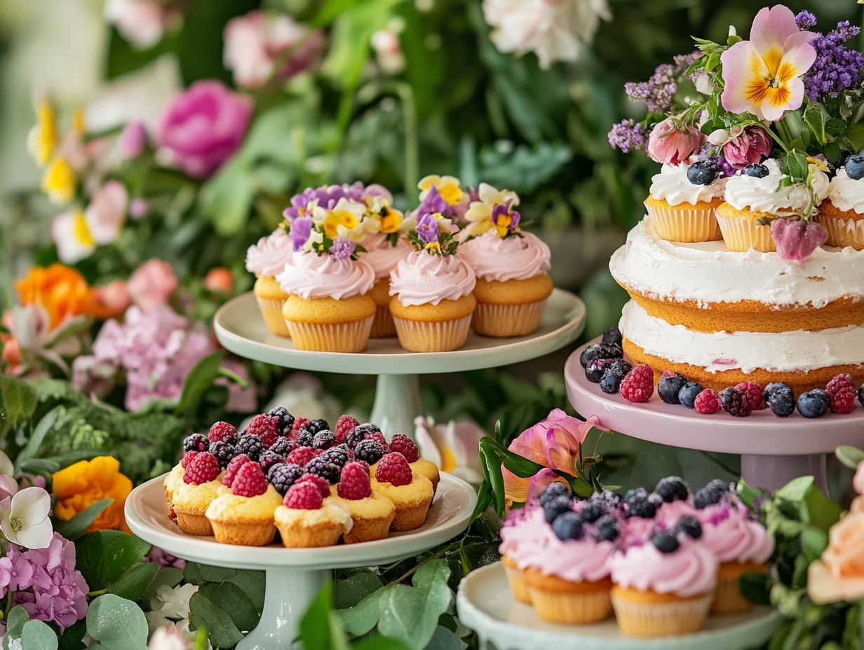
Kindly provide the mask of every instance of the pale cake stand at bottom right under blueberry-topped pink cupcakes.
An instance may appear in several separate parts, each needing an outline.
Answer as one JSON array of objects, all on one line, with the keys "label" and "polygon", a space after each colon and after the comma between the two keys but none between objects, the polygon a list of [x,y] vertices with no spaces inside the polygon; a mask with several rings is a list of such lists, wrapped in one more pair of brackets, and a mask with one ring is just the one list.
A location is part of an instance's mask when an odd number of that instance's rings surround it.
[{"label": "pale cake stand at bottom right under blueberry-topped pink cupcakes", "polygon": [[700,632],[659,639],[625,636],[613,618],[591,625],[545,622],[530,605],[513,600],[500,562],[462,578],[456,608],[459,620],[477,633],[481,650],[744,650],[768,641],[781,622],[775,609],[755,607],[746,614],[709,616]]}]

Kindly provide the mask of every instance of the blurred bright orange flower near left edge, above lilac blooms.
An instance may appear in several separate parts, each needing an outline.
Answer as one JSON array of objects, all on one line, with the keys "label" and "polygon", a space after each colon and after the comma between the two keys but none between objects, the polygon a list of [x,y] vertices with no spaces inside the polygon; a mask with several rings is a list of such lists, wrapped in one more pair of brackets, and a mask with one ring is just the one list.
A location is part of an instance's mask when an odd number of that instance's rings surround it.
[{"label": "blurred bright orange flower near left edge, above lilac blooms", "polygon": [[52,330],[67,318],[90,312],[90,287],[74,268],[62,264],[52,264],[48,268],[33,267],[15,284],[22,305],[45,308]]}]

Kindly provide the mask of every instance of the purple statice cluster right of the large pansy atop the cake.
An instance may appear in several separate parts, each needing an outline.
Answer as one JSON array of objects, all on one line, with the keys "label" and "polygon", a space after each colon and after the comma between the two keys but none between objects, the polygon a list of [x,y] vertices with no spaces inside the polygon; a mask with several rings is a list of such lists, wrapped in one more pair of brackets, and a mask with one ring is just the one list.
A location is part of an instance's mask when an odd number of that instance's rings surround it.
[{"label": "purple statice cluster right of the large pansy atop the cake", "polygon": [[804,75],[804,92],[811,102],[835,98],[844,91],[861,87],[864,54],[842,45],[859,34],[860,27],[842,21],[834,31],[817,35],[810,41],[816,49],[816,61]]}]

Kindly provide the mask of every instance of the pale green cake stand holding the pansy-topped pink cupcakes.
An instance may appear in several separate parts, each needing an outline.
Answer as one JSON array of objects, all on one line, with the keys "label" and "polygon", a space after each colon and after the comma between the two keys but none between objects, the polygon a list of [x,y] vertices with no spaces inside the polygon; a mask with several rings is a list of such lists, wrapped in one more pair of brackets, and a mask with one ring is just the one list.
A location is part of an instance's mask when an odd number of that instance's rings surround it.
[{"label": "pale green cake stand holding the pansy-topped pink cupcakes", "polygon": [[245,293],[216,312],[213,326],[219,343],[240,357],[285,368],[378,375],[372,422],[388,435],[414,432],[423,414],[417,375],[495,368],[559,350],[579,337],[585,305],[573,293],[554,289],[546,301],[540,328],[530,336],[481,337],[473,332],[460,350],[416,353],[403,350],[395,337],[371,338],[363,352],[296,350],[289,338],[268,331],[255,296]]}]

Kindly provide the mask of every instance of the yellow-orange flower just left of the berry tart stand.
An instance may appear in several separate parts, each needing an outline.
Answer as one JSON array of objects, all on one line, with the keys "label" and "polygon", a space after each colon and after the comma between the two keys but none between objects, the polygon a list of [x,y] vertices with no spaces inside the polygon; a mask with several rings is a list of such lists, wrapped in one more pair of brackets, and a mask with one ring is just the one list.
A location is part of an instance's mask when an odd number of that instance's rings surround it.
[{"label": "yellow-orange flower just left of the berry tart stand", "polygon": [[69,465],[54,474],[53,491],[57,497],[54,514],[64,521],[69,521],[99,499],[113,499],[114,502],[99,514],[87,531],[118,528],[130,533],[123,508],[132,491],[132,482],[120,473],[117,458],[98,456]]}]

